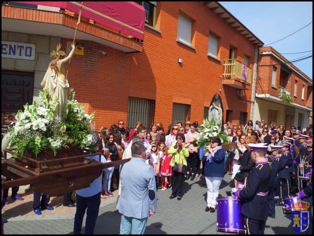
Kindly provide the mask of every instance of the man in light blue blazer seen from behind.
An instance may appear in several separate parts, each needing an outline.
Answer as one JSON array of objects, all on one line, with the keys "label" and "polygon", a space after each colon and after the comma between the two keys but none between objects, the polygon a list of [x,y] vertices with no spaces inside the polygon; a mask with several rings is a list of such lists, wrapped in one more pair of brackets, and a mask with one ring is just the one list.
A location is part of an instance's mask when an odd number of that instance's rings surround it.
[{"label": "man in light blue blazer seen from behind", "polygon": [[133,142],[132,158],[120,170],[121,196],[117,209],[122,214],[121,235],[145,234],[147,219],[157,210],[155,173],[145,163],[145,149],[142,142]]}]

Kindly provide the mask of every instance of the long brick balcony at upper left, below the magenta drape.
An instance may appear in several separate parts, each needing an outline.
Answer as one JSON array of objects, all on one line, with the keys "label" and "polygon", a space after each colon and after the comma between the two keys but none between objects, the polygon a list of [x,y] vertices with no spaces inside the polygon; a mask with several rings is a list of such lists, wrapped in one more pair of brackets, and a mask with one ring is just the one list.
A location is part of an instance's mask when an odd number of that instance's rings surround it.
[{"label": "long brick balcony at upper left, below the magenta drape", "polygon": [[[83,19],[83,18],[82,18]],[[1,30],[73,38],[77,18],[63,12],[52,12],[1,5]],[[77,40],[89,40],[126,52],[142,52],[143,43],[104,26],[81,20]]]}]

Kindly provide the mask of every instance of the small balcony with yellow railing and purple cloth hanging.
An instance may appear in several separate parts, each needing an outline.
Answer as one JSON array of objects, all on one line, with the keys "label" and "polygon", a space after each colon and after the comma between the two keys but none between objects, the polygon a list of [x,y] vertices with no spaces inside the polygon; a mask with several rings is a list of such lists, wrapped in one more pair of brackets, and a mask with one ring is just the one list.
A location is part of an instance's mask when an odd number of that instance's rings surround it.
[{"label": "small balcony with yellow railing and purple cloth hanging", "polygon": [[236,89],[249,89],[252,79],[252,70],[237,59],[225,59],[224,72],[222,74],[223,85]]}]

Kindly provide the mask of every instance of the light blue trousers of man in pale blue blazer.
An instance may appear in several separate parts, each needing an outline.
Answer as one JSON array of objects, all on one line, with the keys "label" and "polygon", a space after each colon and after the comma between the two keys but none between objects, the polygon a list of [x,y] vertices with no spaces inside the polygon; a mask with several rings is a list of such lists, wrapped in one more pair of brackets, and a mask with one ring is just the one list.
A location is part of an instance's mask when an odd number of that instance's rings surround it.
[{"label": "light blue trousers of man in pale blue blazer", "polygon": [[120,235],[144,235],[147,219],[137,219],[121,215]]}]

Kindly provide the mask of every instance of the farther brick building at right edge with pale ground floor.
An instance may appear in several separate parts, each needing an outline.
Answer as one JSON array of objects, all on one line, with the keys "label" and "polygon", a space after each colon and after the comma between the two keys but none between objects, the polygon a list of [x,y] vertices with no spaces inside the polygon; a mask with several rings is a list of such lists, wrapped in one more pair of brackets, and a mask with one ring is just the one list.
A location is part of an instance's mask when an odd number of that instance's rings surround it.
[{"label": "farther brick building at right edge with pale ground floor", "polygon": [[[305,128],[312,123],[313,81],[288,62],[272,47],[259,49],[254,120]],[[283,93],[290,104],[282,103]]]}]

